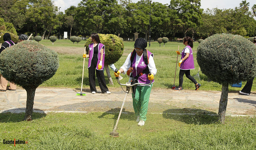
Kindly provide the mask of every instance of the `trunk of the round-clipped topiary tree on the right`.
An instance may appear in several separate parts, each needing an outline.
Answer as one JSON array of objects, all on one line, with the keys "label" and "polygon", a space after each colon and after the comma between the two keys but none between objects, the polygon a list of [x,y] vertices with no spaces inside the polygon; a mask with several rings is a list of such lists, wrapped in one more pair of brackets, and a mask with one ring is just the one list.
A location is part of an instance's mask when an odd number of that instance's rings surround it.
[{"label": "trunk of the round-clipped topiary tree on the right", "polygon": [[228,84],[222,84],[221,99],[219,104],[219,120],[222,124],[225,121],[226,109],[227,109],[227,97],[228,97]]}]

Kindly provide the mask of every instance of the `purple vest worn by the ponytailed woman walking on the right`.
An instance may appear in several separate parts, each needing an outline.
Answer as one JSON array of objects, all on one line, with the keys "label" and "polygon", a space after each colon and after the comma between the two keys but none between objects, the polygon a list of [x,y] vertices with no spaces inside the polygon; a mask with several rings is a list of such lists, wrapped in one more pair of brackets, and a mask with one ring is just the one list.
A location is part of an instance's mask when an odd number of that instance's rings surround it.
[{"label": "purple vest worn by the ponytailed woman walking on the right", "polygon": [[[189,45],[187,45],[186,47],[188,47],[190,49],[190,54],[189,54],[188,58],[180,64],[180,69],[182,69],[182,70],[195,69],[192,48]],[[184,53],[185,48],[182,50],[181,59],[183,59],[185,57],[185,53]]]}]

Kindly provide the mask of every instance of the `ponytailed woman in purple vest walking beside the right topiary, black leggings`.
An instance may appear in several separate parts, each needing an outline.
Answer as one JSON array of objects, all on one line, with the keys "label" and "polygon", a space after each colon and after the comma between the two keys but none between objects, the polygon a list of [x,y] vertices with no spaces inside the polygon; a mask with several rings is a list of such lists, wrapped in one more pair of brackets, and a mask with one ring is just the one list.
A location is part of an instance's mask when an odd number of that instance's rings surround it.
[{"label": "ponytailed woman in purple vest walking beside the right topiary, black leggings", "polygon": [[[197,83],[196,80],[190,75],[190,70],[195,69],[194,67],[194,59],[193,59],[193,40],[190,37],[184,37],[183,44],[186,47],[181,52],[181,60],[179,61],[179,87],[175,88],[174,90],[183,90],[183,75],[185,74],[186,77],[195,83],[195,90],[198,90],[201,84]],[[176,51],[177,54],[180,55],[179,51]]]}]

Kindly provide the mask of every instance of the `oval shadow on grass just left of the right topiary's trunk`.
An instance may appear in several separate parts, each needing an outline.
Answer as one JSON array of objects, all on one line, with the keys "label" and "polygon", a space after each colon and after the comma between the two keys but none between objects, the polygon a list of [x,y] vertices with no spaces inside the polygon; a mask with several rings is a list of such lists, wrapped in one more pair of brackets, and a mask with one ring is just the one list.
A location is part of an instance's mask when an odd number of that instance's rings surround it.
[{"label": "oval shadow on grass just left of the right topiary's trunk", "polygon": [[168,109],[163,111],[163,118],[182,121],[186,124],[198,125],[218,122],[217,113],[193,108]]}]

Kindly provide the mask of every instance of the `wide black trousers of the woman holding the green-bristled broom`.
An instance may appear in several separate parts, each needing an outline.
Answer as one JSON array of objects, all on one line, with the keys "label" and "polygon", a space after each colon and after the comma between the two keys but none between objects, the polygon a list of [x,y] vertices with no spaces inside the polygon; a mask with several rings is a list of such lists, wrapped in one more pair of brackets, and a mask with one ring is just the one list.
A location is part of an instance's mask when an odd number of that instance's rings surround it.
[{"label": "wide black trousers of the woman holding the green-bristled broom", "polygon": [[99,87],[101,89],[101,92],[104,93],[104,92],[108,91],[108,88],[107,88],[107,85],[106,85],[103,70],[97,70],[96,69],[97,62],[98,62],[98,59],[93,58],[92,62],[91,62],[91,66],[88,68],[90,90],[95,91],[95,92],[97,91],[96,90],[96,83],[95,83],[95,70],[96,70],[96,75],[97,75],[97,78],[98,78]]}]

